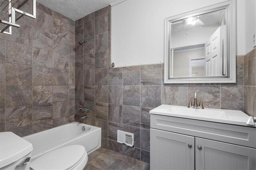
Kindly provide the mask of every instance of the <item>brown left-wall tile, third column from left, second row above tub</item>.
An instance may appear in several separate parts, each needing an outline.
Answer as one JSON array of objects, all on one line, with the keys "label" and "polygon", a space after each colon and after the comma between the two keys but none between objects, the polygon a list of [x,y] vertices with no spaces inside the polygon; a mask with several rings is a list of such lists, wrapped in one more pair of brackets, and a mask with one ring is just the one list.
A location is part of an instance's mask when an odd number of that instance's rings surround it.
[{"label": "brown left-wall tile, third column from left, second row above tub", "polygon": [[44,106],[32,106],[32,124],[52,120],[52,104]]}]

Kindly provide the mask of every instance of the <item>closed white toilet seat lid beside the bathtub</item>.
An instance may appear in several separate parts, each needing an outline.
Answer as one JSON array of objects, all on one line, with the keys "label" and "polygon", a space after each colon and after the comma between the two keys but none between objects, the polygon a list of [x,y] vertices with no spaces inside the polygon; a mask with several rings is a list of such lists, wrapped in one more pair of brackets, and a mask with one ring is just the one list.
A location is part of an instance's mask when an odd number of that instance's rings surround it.
[{"label": "closed white toilet seat lid beside the bathtub", "polygon": [[82,145],[70,145],[52,150],[35,159],[30,164],[34,170],[72,170],[86,165],[87,152]]}]

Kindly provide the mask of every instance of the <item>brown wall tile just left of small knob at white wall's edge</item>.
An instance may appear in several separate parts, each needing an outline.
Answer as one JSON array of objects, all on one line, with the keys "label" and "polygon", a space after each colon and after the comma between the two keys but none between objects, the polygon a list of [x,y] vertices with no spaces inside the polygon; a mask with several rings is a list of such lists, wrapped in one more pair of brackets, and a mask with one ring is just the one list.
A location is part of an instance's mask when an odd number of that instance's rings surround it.
[{"label": "brown wall tile just left of small knob at white wall's edge", "polygon": [[100,51],[95,53],[95,68],[108,68],[108,57],[110,56],[110,51]]}]

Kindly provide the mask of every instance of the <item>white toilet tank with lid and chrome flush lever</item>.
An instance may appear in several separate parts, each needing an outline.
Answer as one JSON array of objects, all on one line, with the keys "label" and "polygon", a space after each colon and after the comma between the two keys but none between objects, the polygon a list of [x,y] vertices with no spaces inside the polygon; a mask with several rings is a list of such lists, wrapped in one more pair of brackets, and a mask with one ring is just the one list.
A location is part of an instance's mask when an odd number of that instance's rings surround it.
[{"label": "white toilet tank with lid and chrome flush lever", "polygon": [[12,132],[0,132],[0,170],[29,170],[33,146]]}]

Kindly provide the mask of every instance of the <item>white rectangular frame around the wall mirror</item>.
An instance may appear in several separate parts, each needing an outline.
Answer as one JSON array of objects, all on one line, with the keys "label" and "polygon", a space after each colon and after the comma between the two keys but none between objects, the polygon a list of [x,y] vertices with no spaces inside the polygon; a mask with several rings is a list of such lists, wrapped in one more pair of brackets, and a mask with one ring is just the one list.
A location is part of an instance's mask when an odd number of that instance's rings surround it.
[{"label": "white rectangular frame around the wall mirror", "polygon": [[[227,77],[174,77],[169,78],[170,74],[170,21],[182,20],[194,15],[204,14],[214,9],[228,8],[228,25],[229,34],[227,39],[229,40],[229,74]],[[236,2],[235,0],[229,0],[205,8],[200,8],[188,13],[172,16],[164,19],[164,83],[236,83]]]}]

